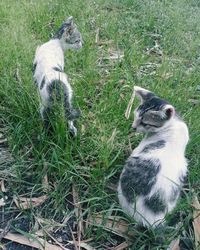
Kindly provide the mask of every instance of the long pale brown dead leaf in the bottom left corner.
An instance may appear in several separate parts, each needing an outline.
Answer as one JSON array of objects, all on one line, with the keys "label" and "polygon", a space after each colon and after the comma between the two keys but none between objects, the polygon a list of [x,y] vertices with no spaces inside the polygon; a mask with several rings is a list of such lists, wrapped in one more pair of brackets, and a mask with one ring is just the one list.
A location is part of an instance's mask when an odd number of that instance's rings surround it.
[{"label": "long pale brown dead leaf in the bottom left corner", "polygon": [[[19,244],[34,247],[37,249],[63,250],[63,248],[56,246],[56,245],[49,244],[46,240],[43,240],[39,237],[34,236],[34,238],[35,238],[34,241],[30,241],[29,239],[27,239],[25,236],[23,236],[21,234],[13,234],[13,233],[7,233],[4,236],[4,239],[11,240],[11,241],[17,242]],[[64,248],[64,249],[69,250],[68,248]]]}]

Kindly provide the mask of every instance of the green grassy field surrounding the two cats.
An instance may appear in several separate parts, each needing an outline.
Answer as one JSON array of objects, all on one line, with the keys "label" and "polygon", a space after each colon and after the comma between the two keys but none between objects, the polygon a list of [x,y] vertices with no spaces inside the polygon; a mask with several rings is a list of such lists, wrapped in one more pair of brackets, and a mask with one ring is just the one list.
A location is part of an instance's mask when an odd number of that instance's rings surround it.
[{"label": "green grassy field surrounding the two cats", "polygon": [[[59,115],[55,117],[54,136],[44,133],[32,79],[36,47],[71,15],[84,39],[80,51],[67,51],[65,55],[74,104],[83,113],[76,139],[69,137]],[[96,249],[117,249],[114,247],[121,243],[126,246],[125,242],[129,245],[126,249],[166,249],[179,234],[185,239],[183,249],[194,248],[191,197],[194,192],[199,195],[200,187],[199,24],[197,0],[1,1],[0,119],[14,157],[13,164],[0,166],[7,189],[1,197],[8,197],[1,217],[12,220],[13,230],[27,236],[34,233],[37,217],[61,223],[68,216],[72,224],[75,217],[87,221],[84,231],[80,225],[71,230],[79,231],[74,233],[77,241],[81,235],[81,241],[90,239],[87,244]],[[112,56],[116,54],[124,57],[115,60]],[[116,192],[111,190],[130,154],[130,143],[134,148],[142,138],[129,134],[133,114],[128,121],[124,117],[134,85],[172,103],[190,131],[186,152],[189,191],[176,209],[184,212],[183,225],[165,232],[164,241],[158,241],[153,230],[135,229],[134,221],[121,211]],[[48,199],[37,208],[19,209],[13,203],[13,197],[43,194]],[[81,208],[74,208],[75,196]],[[91,222],[91,218],[96,219]],[[121,227],[118,232],[116,225],[111,232],[107,223],[118,219],[131,225],[132,236],[123,235]],[[22,220],[28,230],[17,226]],[[62,244],[78,249],[67,244],[70,240],[71,233]]]}]

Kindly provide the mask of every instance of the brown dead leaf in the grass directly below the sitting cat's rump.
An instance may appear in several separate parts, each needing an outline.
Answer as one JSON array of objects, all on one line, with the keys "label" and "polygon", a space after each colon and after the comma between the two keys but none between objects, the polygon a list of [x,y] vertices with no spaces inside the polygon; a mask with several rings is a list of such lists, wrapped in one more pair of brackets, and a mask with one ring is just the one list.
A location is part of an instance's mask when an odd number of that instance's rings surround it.
[{"label": "brown dead leaf in the grass directly below the sitting cat's rump", "polygon": [[129,230],[129,224],[122,219],[114,216],[104,218],[103,215],[95,214],[93,217],[89,217],[87,223],[94,226],[103,226],[105,230],[111,231],[112,233],[126,238],[132,237],[135,234]]}]

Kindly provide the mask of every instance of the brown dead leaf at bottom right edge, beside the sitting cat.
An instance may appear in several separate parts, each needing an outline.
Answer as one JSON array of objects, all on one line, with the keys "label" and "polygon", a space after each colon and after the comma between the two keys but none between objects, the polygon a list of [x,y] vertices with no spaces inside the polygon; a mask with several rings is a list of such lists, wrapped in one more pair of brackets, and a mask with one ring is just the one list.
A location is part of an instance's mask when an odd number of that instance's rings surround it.
[{"label": "brown dead leaf at bottom right edge, beside the sitting cat", "polygon": [[196,195],[193,197],[192,206],[194,207],[192,224],[194,228],[195,246],[197,248],[200,244],[200,204]]}]

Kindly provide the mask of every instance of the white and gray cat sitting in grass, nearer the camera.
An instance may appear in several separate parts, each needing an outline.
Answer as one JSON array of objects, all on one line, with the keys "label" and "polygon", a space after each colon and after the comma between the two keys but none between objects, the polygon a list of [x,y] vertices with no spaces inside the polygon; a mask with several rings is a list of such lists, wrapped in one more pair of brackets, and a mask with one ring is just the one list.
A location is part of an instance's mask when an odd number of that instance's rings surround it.
[{"label": "white and gray cat sitting in grass, nearer the camera", "polygon": [[163,225],[176,206],[187,176],[186,124],[175,108],[154,93],[135,86],[141,104],[132,127],[144,139],[126,161],[118,185],[122,208],[145,227]]}]

